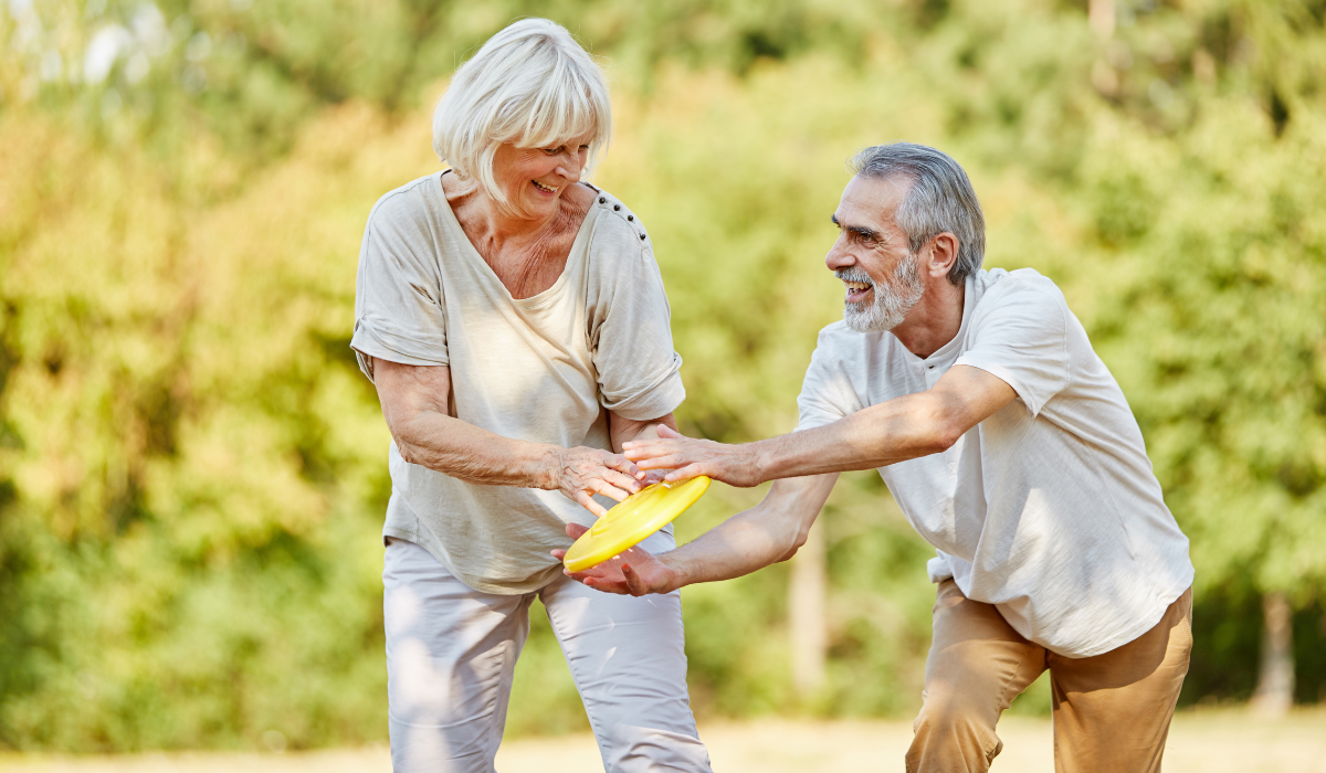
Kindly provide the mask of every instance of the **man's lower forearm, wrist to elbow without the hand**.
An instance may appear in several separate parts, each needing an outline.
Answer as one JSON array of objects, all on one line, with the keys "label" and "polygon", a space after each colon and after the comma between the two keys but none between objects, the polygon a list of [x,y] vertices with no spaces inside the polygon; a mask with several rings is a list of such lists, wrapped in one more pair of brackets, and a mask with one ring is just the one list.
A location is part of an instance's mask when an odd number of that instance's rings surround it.
[{"label": "man's lower forearm, wrist to elbow without the hand", "polygon": [[780,480],[754,508],[659,560],[676,573],[676,587],[732,579],[786,561],[805,544],[837,479],[837,475],[821,475]]}]

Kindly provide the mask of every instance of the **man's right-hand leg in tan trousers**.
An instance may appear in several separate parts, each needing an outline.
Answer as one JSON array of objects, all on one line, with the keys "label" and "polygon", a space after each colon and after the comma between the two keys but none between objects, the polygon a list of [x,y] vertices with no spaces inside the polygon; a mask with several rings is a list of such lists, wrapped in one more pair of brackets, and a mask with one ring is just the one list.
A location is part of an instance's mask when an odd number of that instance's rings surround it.
[{"label": "man's right-hand leg in tan trousers", "polygon": [[1192,589],[1154,628],[1095,658],[1050,655],[1054,769],[1160,770],[1164,740],[1192,652]]}]

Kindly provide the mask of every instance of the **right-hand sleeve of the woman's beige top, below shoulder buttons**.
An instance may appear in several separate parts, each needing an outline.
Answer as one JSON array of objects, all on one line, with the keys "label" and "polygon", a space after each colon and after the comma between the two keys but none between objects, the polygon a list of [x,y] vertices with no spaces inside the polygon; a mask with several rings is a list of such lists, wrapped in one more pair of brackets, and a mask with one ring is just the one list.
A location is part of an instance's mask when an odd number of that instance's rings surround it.
[{"label": "right-hand sleeve of the woman's beige top, below shoulder buttons", "polygon": [[590,351],[599,399],[635,422],[664,416],[686,399],[672,310],[639,220],[601,212],[590,243]]}]

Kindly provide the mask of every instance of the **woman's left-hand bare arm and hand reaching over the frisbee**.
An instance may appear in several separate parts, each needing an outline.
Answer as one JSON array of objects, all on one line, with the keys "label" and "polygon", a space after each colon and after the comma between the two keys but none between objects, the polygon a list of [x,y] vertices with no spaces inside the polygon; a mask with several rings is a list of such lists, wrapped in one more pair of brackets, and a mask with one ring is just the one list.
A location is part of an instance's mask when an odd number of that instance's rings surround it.
[{"label": "woman's left-hand bare arm and hand reaching over the frisbee", "polygon": [[373,375],[387,428],[411,464],[465,483],[558,489],[597,516],[607,510],[593,495],[621,501],[640,489],[644,473],[619,453],[513,440],[451,416],[447,366],[374,358]]}]

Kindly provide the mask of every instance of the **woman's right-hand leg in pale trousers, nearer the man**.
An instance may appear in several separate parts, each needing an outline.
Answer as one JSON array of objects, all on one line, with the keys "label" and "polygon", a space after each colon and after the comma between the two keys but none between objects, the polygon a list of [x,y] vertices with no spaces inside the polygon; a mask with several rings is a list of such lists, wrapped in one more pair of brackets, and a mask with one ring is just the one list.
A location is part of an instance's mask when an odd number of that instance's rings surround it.
[{"label": "woman's right-hand leg in pale trousers, nearer the man", "polygon": [[[671,550],[671,534],[642,542]],[[585,701],[607,773],[708,773],[686,688],[682,598],[601,593],[568,578],[540,598]]]}]

